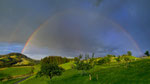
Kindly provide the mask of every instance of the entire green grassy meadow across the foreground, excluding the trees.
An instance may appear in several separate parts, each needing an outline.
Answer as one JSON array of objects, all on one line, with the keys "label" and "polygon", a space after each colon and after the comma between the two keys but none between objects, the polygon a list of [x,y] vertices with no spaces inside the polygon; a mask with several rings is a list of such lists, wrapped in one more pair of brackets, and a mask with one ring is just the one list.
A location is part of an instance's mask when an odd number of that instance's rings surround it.
[{"label": "entire green grassy meadow across the foreground, excluding the trees", "polygon": [[[57,58],[60,61],[60,58]],[[108,55],[106,57],[98,57],[91,59],[91,64],[94,63],[94,66],[88,70],[78,70],[77,68],[75,68],[77,66],[75,60],[67,61],[66,63],[62,61],[61,64],[59,64],[59,67],[62,67],[64,71],[60,76],[54,76],[52,79],[50,79],[47,76],[37,77],[37,73],[41,70],[41,63],[34,66],[0,68],[0,79],[3,79],[2,81],[0,81],[0,84],[150,83],[150,57],[139,58],[128,55],[116,57]],[[80,60],[80,62],[87,63],[90,62],[91,59],[83,59]],[[46,61],[49,62],[49,60]]]}]

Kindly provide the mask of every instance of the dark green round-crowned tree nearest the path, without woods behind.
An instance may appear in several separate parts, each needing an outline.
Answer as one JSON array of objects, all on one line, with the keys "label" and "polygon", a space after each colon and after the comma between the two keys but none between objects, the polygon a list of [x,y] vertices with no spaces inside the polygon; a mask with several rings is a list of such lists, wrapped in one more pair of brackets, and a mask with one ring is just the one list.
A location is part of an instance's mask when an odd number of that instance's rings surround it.
[{"label": "dark green round-crowned tree nearest the path, without woods behind", "polygon": [[50,79],[54,76],[60,76],[63,72],[63,68],[57,64],[42,64],[41,71],[37,73],[37,76],[48,76]]}]

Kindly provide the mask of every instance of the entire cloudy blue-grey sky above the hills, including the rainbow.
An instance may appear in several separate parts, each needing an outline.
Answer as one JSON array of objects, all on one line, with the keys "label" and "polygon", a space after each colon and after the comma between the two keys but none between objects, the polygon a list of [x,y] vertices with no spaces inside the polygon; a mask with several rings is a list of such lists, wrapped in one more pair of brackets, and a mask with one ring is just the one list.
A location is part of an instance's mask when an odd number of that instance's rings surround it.
[{"label": "entire cloudy blue-grey sky above the hills, including the rainbow", "polygon": [[130,50],[140,56],[150,50],[149,4],[149,0],[0,0],[0,54],[23,51],[40,59]]}]

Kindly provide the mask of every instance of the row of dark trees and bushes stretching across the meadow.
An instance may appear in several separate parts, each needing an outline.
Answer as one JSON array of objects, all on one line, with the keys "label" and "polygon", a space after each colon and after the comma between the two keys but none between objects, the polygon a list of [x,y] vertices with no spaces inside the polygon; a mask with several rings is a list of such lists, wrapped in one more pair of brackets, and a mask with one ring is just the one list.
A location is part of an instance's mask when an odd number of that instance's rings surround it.
[{"label": "row of dark trees and bushes stretching across the meadow", "polygon": [[[149,56],[149,52],[146,51],[145,55]],[[54,76],[59,76],[64,71],[64,69],[59,65],[73,61],[75,65],[73,65],[72,68],[82,70],[82,75],[89,75],[89,79],[91,80],[92,74],[89,73],[88,70],[92,69],[95,65],[110,64],[112,61],[118,63],[123,62],[127,65],[129,62],[135,60],[136,57],[132,56],[131,51],[128,51],[126,54],[121,56],[107,55],[97,58],[95,58],[94,53],[92,53],[91,56],[89,54],[80,54],[79,56],[74,57],[74,59],[68,59],[66,57],[63,58],[61,56],[49,56],[41,59],[41,70],[37,73],[37,77],[47,76],[52,79]]]}]

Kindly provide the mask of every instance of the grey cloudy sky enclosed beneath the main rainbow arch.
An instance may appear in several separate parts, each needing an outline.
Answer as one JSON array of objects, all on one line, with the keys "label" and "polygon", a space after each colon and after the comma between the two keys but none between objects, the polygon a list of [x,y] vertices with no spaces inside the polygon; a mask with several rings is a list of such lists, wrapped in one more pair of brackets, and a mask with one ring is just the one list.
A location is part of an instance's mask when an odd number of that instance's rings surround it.
[{"label": "grey cloudy sky enclosed beneath the main rainbow arch", "polygon": [[135,48],[122,34],[123,31],[105,21],[99,14],[77,11],[65,11],[51,17],[48,23],[36,32],[24,53],[43,52],[35,51],[36,47],[47,47],[50,50],[48,55],[77,56],[80,53],[96,52],[104,56],[120,47]]}]

